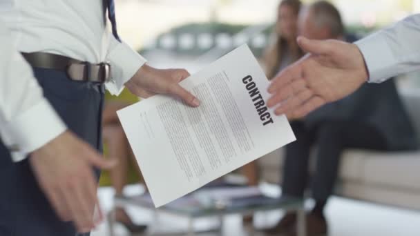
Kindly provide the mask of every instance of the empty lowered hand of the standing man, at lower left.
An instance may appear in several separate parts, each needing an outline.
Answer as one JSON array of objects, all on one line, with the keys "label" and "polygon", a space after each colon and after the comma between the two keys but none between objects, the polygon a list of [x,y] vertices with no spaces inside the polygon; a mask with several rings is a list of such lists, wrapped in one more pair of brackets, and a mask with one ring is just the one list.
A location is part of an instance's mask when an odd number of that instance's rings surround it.
[{"label": "empty lowered hand of the standing man, at lower left", "polygon": [[115,165],[113,161],[103,159],[69,131],[32,152],[29,158],[41,190],[63,221],[73,221],[80,233],[102,221],[100,209],[98,221],[93,219],[99,204],[92,168],[109,169]]}]

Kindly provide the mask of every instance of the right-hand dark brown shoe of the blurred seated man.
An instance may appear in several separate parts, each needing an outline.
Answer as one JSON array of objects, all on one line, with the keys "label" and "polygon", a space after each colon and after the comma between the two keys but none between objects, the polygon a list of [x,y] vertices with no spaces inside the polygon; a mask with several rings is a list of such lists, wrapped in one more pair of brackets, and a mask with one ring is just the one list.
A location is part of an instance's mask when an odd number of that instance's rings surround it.
[{"label": "right-hand dark brown shoe of the blurred seated man", "polygon": [[[328,231],[327,220],[323,215],[316,215],[314,213],[308,213],[305,218],[306,222],[306,235],[307,236],[326,236]],[[290,236],[296,236],[297,228],[296,225],[292,228],[293,232]]]}]

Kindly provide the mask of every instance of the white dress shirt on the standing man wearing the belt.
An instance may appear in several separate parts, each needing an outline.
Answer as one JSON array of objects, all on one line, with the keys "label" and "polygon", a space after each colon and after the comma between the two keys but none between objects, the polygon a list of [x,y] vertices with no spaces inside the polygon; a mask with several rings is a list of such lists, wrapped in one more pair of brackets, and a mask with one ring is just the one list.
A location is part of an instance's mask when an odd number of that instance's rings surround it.
[{"label": "white dress shirt on the standing man wearing the belt", "polygon": [[66,130],[19,52],[108,61],[113,95],[146,62],[106,28],[102,0],[1,0],[0,51],[0,135],[14,161]]}]

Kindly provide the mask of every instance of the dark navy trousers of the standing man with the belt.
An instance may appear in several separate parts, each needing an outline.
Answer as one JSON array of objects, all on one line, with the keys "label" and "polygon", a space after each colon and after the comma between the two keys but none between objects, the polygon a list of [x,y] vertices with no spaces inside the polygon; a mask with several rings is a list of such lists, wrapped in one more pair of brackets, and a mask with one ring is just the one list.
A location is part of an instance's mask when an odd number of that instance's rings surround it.
[{"label": "dark navy trousers of the standing man with the belt", "polygon": [[[70,81],[64,72],[57,70],[35,69],[35,76],[68,128],[102,150],[103,86]],[[99,171],[95,171],[99,177]],[[76,235],[73,223],[61,222],[39,189],[28,159],[12,163],[1,141],[0,188],[1,236]]]}]

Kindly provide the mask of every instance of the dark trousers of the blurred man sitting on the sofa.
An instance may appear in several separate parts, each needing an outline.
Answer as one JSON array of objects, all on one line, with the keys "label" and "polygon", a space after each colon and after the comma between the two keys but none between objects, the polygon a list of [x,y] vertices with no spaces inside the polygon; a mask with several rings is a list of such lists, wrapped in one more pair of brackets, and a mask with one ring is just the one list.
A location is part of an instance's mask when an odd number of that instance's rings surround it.
[{"label": "dark trousers of the blurred man sitting on the sofa", "polygon": [[303,197],[309,179],[310,150],[317,145],[312,197],[327,201],[336,182],[340,155],[346,148],[386,150],[384,137],[372,126],[352,121],[329,121],[308,129],[302,121],[292,122],[296,141],[286,146],[283,194]]}]

